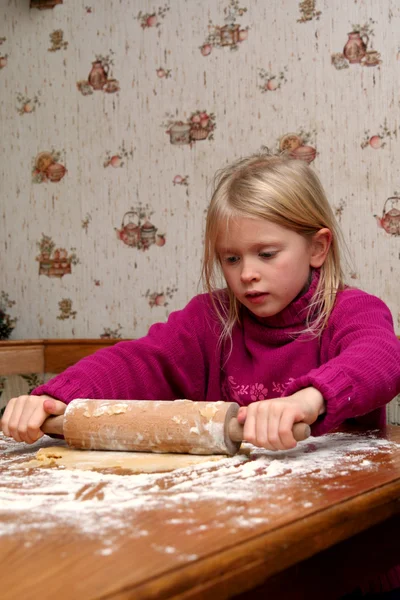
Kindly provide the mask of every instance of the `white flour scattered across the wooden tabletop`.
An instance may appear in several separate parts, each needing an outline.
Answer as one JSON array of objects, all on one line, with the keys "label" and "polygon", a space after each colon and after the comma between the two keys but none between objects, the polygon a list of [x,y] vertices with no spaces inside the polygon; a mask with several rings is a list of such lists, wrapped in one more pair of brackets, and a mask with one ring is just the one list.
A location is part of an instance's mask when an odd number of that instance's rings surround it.
[{"label": "white flour scattered across the wooden tabletop", "polygon": [[[390,461],[399,446],[372,434],[334,433],[308,438],[282,452],[243,444],[236,456],[218,457],[218,462],[212,462],[215,457],[201,456],[208,462],[164,473],[126,474],[123,468],[121,474],[81,467],[18,468],[21,461],[29,462],[38,451],[49,451],[49,447],[50,453],[58,454],[63,442],[44,436],[27,446],[0,433],[0,536],[22,533],[29,545],[43,532],[47,535],[64,524],[95,538],[99,553],[106,556],[127,536],[138,540],[144,537],[150,544],[157,544],[156,539],[150,539],[146,522],[152,511],[162,509],[173,545],[155,549],[168,554],[175,548],[172,556],[176,560],[195,560],[194,554],[184,554],[180,541],[184,536],[195,535],[201,545],[207,527],[259,531],[281,519],[288,509],[301,516],[312,514],[325,496],[337,497],[340,489],[346,488],[348,474],[377,471],[379,461]],[[83,452],[87,455],[94,451]],[[158,456],[151,454],[153,460]],[[295,498],[294,480],[296,489],[301,490]],[[321,480],[322,489],[317,485]],[[199,507],[207,510],[210,503],[216,516],[204,523],[198,516]]]}]

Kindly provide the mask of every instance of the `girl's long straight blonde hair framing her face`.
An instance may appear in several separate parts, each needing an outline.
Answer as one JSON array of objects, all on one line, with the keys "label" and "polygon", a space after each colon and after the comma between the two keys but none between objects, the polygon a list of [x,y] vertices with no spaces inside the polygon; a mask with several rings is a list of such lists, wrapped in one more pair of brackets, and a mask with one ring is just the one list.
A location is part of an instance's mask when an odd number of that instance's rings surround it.
[{"label": "girl's long straight blonde hair framing her face", "polygon": [[222,324],[221,342],[231,340],[234,325],[240,323],[241,304],[229,286],[228,302],[226,294],[216,293],[222,273],[216,252],[217,237],[221,224],[229,226],[234,217],[267,219],[306,239],[325,227],[332,232],[304,330],[320,336],[344,282],[339,248],[341,232],[317,175],[302,160],[268,154],[254,154],[217,172],[207,213],[202,279]]}]

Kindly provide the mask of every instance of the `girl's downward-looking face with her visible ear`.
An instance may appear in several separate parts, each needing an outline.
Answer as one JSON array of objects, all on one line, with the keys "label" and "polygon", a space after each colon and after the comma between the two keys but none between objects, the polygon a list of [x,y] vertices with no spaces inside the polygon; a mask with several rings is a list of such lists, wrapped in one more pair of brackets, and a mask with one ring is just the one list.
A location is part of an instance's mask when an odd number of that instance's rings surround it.
[{"label": "girl's downward-looking face with her visible ear", "polygon": [[[329,234],[325,251],[321,232]],[[238,217],[221,228],[217,254],[237,300],[258,317],[272,317],[307,287],[310,267],[322,265],[329,243],[328,229],[307,240],[265,219]]]}]

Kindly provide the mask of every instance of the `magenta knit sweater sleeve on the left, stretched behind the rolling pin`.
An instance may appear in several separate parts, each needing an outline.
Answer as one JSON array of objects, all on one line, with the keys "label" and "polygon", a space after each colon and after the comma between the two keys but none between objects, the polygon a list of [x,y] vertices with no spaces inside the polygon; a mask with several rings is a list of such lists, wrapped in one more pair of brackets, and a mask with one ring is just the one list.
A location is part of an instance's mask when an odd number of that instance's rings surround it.
[{"label": "magenta knit sweater sleeve on the left, stretched behind the rolling pin", "polygon": [[99,350],[32,393],[66,404],[74,398],[201,400],[209,362],[205,338],[212,334],[204,297],[152,325],[147,336]]}]

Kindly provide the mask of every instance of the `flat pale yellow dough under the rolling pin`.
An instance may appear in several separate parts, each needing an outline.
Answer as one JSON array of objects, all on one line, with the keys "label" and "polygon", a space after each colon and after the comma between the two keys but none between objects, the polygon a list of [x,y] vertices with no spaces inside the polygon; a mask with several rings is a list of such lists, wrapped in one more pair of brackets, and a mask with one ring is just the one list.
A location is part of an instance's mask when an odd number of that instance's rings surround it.
[{"label": "flat pale yellow dough under the rolling pin", "polygon": [[225,455],[156,454],[154,452],[111,452],[108,450],[75,450],[67,446],[41,448],[36,458],[16,467],[64,467],[84,471],[118,473],[165,473],[210,461],[228,458]]}]

